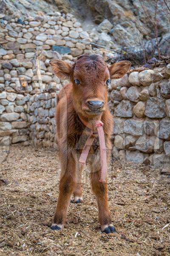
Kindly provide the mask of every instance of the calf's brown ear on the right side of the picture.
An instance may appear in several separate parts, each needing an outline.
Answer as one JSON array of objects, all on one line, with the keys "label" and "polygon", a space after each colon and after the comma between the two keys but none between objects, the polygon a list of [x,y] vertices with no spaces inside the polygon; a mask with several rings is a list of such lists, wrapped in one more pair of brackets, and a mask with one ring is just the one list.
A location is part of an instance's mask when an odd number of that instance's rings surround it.
[{"label": "calf's brown ear on the right side of the picture", "polygon": [[108,70],[112,79],[118,79],[124,76],[130,69],[130,61],[118,61],[112,64]]}]

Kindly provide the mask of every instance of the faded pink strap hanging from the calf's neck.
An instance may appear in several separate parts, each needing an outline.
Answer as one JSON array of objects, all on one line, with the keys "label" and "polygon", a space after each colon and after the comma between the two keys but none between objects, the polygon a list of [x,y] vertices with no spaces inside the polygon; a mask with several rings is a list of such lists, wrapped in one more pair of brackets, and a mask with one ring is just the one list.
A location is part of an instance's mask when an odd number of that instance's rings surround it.
[{"label": "faded pink strap hanging from the calf's neck", "polygon": [[[107,158],[106,158],[106,146],[105,146],[105,135],[103,131],[103,123],[101,121],[97,121],[95,123],[95,127],[97,128],[99,134],[99,144],[100,144],[100,160],[101,160],[101,177],[100,182],[105,182],[106,180],[106,172],[107,172]],[[91,130],[91,134],[88,137],[85,146],[82,150],[82,153],[79,158],[80,163],[85,163],[88,157],[89,150],[94,141],[93,131]]]}]

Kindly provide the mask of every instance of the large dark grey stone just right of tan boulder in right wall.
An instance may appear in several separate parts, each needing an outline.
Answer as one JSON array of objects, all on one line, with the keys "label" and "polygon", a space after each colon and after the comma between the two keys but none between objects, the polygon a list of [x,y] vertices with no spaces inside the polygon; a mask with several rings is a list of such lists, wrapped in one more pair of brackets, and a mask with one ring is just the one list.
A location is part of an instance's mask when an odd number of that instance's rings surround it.
[{"label": "large dark grey stone just right of tan boulder in right wall", "polygon": [[165,110],[164,99],[159,99],[157,97],[150,97],[147,100],[145,116],[150,118],[162,118],[166,116],[164,110]]}]

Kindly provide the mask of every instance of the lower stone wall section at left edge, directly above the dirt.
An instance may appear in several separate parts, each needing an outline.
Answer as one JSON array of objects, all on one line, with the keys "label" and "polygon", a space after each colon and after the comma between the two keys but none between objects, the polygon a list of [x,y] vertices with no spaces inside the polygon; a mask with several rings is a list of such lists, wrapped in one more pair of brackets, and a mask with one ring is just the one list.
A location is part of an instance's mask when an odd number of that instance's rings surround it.
[{"label": "lower stone wall section at left edge, directly above the dirt", "polygon": [[0,146],[25,142],[28,138],[26,102],[29,95],[0,93]]}]

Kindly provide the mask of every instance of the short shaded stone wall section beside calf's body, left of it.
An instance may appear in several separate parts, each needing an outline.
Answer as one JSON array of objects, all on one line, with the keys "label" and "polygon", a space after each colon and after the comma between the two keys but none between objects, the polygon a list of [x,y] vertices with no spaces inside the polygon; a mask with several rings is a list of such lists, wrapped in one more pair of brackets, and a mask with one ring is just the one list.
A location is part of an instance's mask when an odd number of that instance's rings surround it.
[{"label": "short shaded stone wall section beside calf's body, left of it", "polygon": [[57,148],[55,107],[56,93],[40,93],[27,102],[29,137],[34,146]]}]

